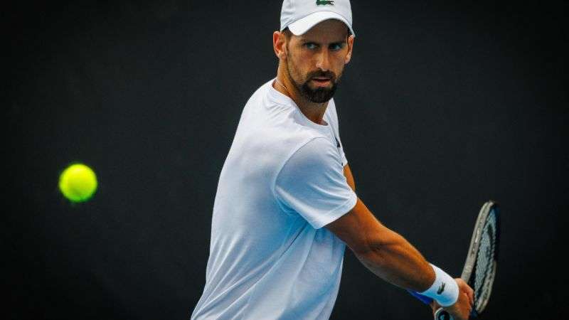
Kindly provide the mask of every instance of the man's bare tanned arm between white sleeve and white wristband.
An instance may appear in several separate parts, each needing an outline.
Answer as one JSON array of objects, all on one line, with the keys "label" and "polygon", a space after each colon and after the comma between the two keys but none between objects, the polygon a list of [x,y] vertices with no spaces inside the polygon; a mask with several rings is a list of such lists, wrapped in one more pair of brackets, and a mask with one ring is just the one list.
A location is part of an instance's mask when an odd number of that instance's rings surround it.
[{"label": "man's bare tanned arm between white sleeve and white wristband", "polygon": [[[349,171],[346,167],[344,171]],[[416,292],[425,291],[435,281],[435,272],[420,252],[382,225],[359,198],[349,213],[326,228],[344,241],[363,265],[385,281]]]}]

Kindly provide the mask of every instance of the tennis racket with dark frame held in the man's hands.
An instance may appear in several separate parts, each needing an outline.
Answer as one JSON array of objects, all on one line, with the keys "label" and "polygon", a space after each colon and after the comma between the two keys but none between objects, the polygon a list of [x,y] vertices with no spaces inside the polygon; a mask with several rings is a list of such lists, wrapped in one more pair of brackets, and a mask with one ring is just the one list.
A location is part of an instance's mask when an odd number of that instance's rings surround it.
[{"label": "tennis racket with dark frame held in the man's hands", "polygon": [[[500,214],[499,206],[494,201],[484,203],[476,225],[467,260],[464,262],[462,275],[464,282],[474,289],[474,306],[470,318],[476,318],[484,311],[490,294],[494,276],[496,275],[496,265],[498,264],[498,248],[500,240]],[[422,296],[417,292],[410,291],[416,298],[425,304],[430,304],[432,299]],[[453,317],[444,309],[440,308],[435,312],[435,320],[453,320]]]}]

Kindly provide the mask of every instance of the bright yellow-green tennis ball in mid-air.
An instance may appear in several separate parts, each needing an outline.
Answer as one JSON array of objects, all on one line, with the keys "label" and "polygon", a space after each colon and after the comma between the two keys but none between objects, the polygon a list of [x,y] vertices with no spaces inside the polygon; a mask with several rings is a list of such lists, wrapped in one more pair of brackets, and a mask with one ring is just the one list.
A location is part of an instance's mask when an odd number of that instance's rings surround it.
[{"label": "bright yellow-green tennis ball in mid-air", "polygon": [[87,201],[97,190],[97,176],[85,164],[72,164],[59,176],[59,190],[71,202]]}]

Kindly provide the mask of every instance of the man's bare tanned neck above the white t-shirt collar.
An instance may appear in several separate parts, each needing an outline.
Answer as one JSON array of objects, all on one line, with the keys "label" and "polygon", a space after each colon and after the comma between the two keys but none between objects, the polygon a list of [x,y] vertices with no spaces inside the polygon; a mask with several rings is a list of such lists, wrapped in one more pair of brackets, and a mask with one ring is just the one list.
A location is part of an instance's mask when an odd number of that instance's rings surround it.
[{"label": "man's bare tanned neck above the white t-shirt collar", "polygon": [[[274,87],[278,92],[283,95],[287,95],[297,104],[300,112],[304,114],[310,121],[316,124],[324,124],[322,118],[324,117],[324,112],[326,112],[326,107],[328,107],[328,101],[322,103],[314,103],[303,97],[297,88],[290,82],[284,75],[280,72],[277,73],[277,80],[273,82],[272,87]],[[279,83],[280,82],[280,83]],[[284,87],[283,87],[284,85]]]}]

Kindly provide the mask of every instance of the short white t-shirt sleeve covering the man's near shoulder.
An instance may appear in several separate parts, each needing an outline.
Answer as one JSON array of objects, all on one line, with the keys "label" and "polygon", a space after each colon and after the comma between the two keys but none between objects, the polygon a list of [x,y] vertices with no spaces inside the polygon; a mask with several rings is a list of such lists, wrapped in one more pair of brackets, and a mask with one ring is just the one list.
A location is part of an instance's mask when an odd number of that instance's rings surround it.
[{"label": "short white t-shirt sleeve covering the man's near shoulder", "polygon": [[356,206],[356,193],[344,176],[336,145],[317,137],[297,151],[282,166],[275,180],[275,197],[319,229]]}]

